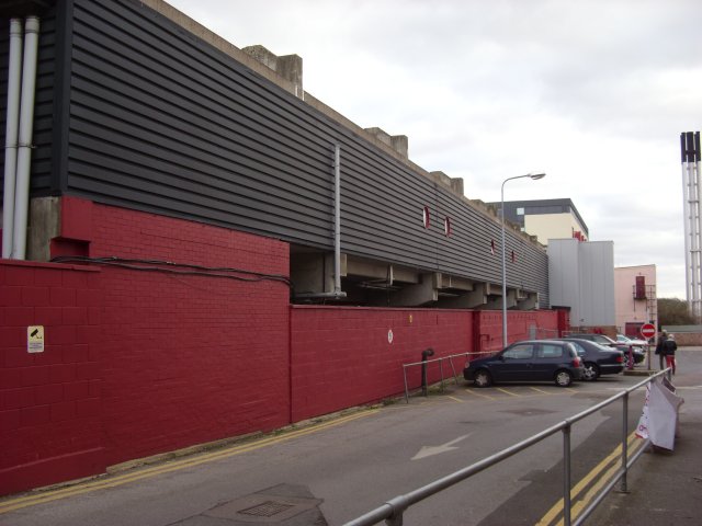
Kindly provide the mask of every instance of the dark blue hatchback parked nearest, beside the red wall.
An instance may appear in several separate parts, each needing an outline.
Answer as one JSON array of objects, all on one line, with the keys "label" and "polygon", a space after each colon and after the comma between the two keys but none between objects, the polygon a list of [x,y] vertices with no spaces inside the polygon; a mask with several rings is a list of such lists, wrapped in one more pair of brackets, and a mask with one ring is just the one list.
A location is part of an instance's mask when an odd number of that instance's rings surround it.
[{"label": "dark blue hatchback parked nearest, beside the red wall", "polygon": [[582,361],[570,342],[528,340],[466,364],[463,377],[476,387],[502,381],[553,381],[568,387],[582,377]]}]

